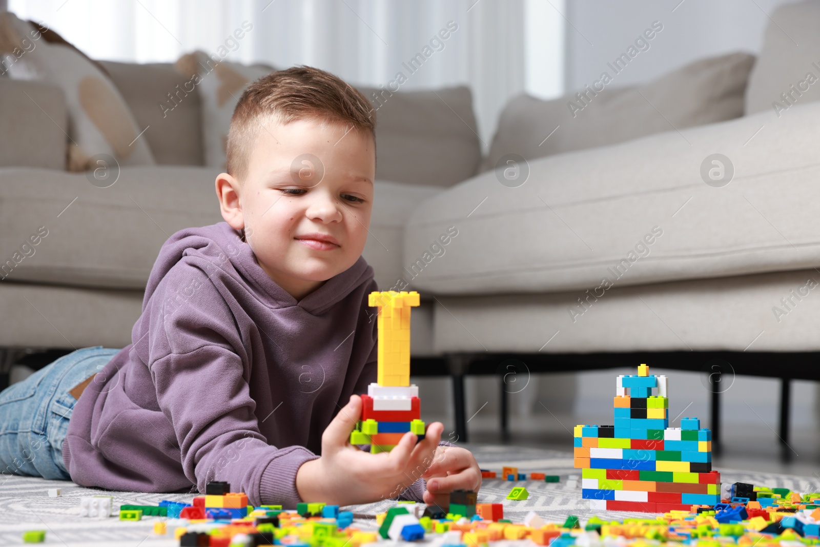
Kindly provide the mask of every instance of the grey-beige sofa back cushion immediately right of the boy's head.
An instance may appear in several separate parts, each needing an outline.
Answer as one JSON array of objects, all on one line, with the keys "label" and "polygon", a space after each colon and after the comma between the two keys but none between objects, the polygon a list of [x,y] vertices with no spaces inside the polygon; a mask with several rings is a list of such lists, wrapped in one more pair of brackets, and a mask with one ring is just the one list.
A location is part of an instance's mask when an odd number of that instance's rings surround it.
[{"label": "grey-beige sofa back cushion immediately right of the boy's head", "polygon": [[357,89],[376,109],[377,179],[452,186],[476,174],[481,140],[468,87]]}]

